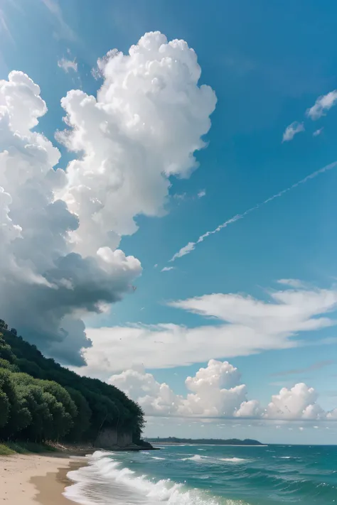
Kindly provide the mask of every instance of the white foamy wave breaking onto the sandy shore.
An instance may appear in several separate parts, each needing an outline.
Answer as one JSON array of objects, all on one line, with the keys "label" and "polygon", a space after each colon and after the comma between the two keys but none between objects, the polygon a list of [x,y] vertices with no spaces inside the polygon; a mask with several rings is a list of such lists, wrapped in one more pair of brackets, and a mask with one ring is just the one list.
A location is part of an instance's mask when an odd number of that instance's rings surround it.
[{"label": "white foamy wave breaking onto the sandy shore", "polygon": [[[97,451],[98,452],[98,451]],[[123,503],[114,501],[114,484],[123,485],[125,489],[134,493],[135,501],[126,501],[127,503],[137,504],[174,504],[174,505],[245,505],[242,501],[226,500],[218,501],[215,497],[209,497],[206,493],[197,489],[188,489],[184,484],[178,484],[170,479],[162,479],[158,482],[150,480],[146,475],[137,475],[127,467],[121,467],[121,464],[107,457],[107,453],[97,454],[90,457],[87,467],[68,472],[68,478],[75,482],[70,487],[65,488],[66,498],[77,501],[84,505],[95,505],[106,503],[102,501],[100,495],[92,492],[90,484],[96,484],[96,489],[100,489],[102,484],[111,486],[111,497],[109,504]],[[97,484],[100,484],[97,486]],[[97,492],[98,493],[98,492]],[[138,495],[138,499],[137,499]],[[110,499],[111,498],[111,499]]]}]

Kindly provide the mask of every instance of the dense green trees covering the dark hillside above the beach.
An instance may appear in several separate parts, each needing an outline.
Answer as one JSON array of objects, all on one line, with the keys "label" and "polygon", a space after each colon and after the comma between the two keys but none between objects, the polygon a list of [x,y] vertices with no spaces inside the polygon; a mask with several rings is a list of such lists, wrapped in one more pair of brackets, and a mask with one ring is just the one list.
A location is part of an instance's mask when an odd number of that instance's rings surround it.
[{"label": "dense green trees covering the dark hillside above the beach", "polygon": [[144,413],[114,386],[81,377],[0,320],[0,440],[95,442],[103,428],[141,442]]}]

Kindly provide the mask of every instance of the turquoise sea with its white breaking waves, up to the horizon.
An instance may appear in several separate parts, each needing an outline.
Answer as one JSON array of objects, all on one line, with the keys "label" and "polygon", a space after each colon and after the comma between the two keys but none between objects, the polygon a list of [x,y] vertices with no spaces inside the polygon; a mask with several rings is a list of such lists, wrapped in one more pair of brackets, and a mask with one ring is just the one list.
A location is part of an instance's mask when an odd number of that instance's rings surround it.
[{"label": "turquoise sea with its white breaking waves, up to the horizon", "polygon": [[337,446],[165,445],[103,452],[68,473],[82,505],[337,504]]}]

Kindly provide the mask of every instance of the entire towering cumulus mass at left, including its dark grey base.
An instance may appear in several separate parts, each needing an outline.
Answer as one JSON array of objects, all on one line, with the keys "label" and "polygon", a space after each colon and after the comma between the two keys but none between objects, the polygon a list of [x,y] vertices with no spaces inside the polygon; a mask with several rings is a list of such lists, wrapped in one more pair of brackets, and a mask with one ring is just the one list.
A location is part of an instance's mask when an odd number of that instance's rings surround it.
[{"label": "entire towering cumulus mass at left, including its dark grey base", "polygon": [[82,317],[120,300],[141,273],[118,249],[139,214],[161,215],[169,176],[196,168],[215,94],[198,86],[196,54],[147,33],[129,55],[99,62],[97,98],[62,100],[78,153],[57,169],[58,148],[38,133],[41,89],[23,72],[0,81],[0,315],[48,355],[81,364]]}]

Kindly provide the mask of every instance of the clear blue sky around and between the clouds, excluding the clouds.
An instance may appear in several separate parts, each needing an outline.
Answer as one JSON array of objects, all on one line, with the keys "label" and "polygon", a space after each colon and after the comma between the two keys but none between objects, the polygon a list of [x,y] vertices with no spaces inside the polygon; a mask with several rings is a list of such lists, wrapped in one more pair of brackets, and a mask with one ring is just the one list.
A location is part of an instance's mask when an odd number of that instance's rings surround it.
[{"label": "clear blue sky around and between the clouds, excluding the clouds", "polygon": [[[77,156],[54,139],[55,131],[65,126],[60,99],[77,88],[95,95],[101,85],[91,74],[97,58],[113,48],[127,53],[146,32],[161,31],[168,40],[186,40],[198,55],[199,84],[212,87],[218,98],[205,136],[207,146],[195,155],[198,168],[189,178],[170,176],[165,215],[137,215],[138,231],[122,236],[120,249],[139,259],[143,271],[134,281],[134,293],[106,314],[86,315],[90,338],[93,329],[109,327],[117,335],[129,323],[141,323],[144,332],[163,323],[188,328],[220,325],[214,317],[205,319],[168,305],[173,300],[241,293],[268,304],[270,293],[284,289],[335,292],[337,167],[207,237],[191,254],[169,262],[189,241],[337,161],[337,107],[317,120],[306,116],[318,97],[337,87],[333,3],[100,0],[97,5],[91,0],[4,0],[0,12],[0,78],[6,80],[11,70],[21,70],[41,87],[48,113],[37,128],[60,149],[60,168]],[[58,66],[61,58],[75,61],[77,70],[65,72]],[[293,121],[303,121],[305,130],[282,142]],[[205,195],[198,196],[200,192]],[[165,266],[174,269],[161,272]],[[279,279],[306,284],[282,286]],[[328,316],[322,310],[312,317],[315,320],[323,313],[333,320],[335,311],[336,305],[331,304]],[[219,350],[216,356],[208,356],[206,338],[205,359],[197,352],[191,364],[176,359],[172,367],[160,358],[172,353],[169,343],[156,343],[158,366],[154,359],[144,360],[144,369],[159,384],[169,384],[176,395],[186,395],[186,376],[194,376],[211,357],[228,359],[240,370],[240,384],[247,384],[248,397],[264,406],[282,385],[291,388],[304,382],[319,393],[324,411],[331,411],[337,406],[336,327],[331,322],[300,335],[295,328],[294,334],[295,340],[301,339],[296,347],[265,348],[245,356],[228,356],[228,347],[223,355]],[[126,344],[124,354],[128,353],[131,368],[132,350]],[[114,364],[105,379],[122,371],[124,366]],[[129,392],[126,381],[124,389]],[[150,418],[147,434],[200,436],[205,432],[219,437],[267,436],[269,442],[328,443],[331,433],[336,433],[335,423],[321,421],[282,421],[276,429],[276,420],[267,426],[256,419],[242,420],[237,426],[231,420],[216,424],[206,420],[202,427],[201,420],[190,425],[186,417],[181,422],[169,414],[164,420],[159,417],[160,422]],[[319,429],[312,428],[316,424]],[[304,430],[298,429],[303,426]]]}]

